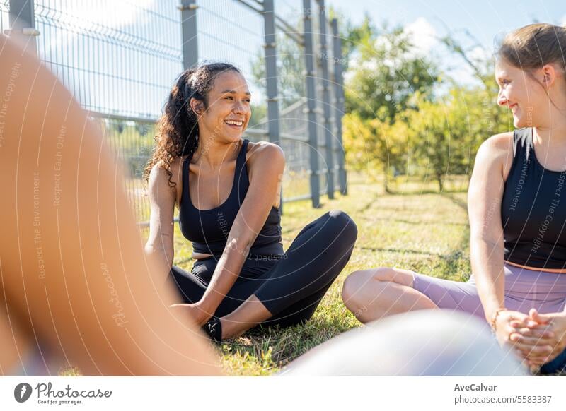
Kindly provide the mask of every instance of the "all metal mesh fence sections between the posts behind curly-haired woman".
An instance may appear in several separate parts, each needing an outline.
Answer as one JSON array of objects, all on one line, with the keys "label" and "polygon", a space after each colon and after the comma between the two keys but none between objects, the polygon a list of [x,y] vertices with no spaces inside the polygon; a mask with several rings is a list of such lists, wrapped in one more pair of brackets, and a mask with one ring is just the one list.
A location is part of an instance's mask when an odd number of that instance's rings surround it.
[{"label": "all metal mesh fence sections between the posts behind curly-haired woman", "polygon": [[[8,8],[31,0],[0,0],[0,28],[9,28]],[[333,33],[326,22],[327,49],[320,48],[318,6],[312,2],[315,44],[316,155],[319,169],[312,168],[304,49],[304,2],[277,0],[275,44],[277,47],[277,102],[279,132],[270,131],[267,95],[266,38],[268,11],[256,0],[182,0],[196,10],[198,56],[191,61],[227,61],[235,64],[248,80],[253,115],[246,137],[270,140],[282,146],[287,167],[283,181],[284,201],[313,198],[312,174],[320,177],[320,193],[328,192],[324,105],[334,107],[333,87],[325,96],[321,61],[328,61],[333,76]],[[137,220],[149,220],[141,173],[154,145],[156,119],[175,78],[187,66],[183,44],[187,21],[182,21],[181,0],[35,0],[33,13],[37,54],[90,112],[106,141],[125,165],[125,187]],[[27,3],[26,3],[27,4]],[[184,37],[185,36],[185,37]],[[322,54],[325,55],[322,55]],[[185,59],[185,61],[184,61]],[[326,99],[326,100],[325,100]],[[271,133],[271,134],[270,134]],[[333,163],[337,165],[333,151]],[[335,173],[337,174],[337,173]],[[337,184],[335,178],[334,186]],[[317,196],[318,201],[318,196]],[[313,204],[315,203],[313,199]]]}]

